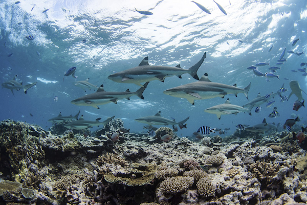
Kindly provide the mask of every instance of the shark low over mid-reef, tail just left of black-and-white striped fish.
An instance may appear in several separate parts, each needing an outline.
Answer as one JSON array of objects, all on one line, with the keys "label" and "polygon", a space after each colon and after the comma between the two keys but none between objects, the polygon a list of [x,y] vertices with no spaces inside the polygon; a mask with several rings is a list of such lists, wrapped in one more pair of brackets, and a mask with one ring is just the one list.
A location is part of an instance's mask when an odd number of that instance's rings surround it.
[{"label": "shark low over mid-reef, tail just left of black-and-white striped fish", "polygon": [[155,115],[146,116],[146,117],[140,117],[135,119],[138,122],[145,123],[148,125],[182,125],[184,128],[187,128],[186,125],[183,125],[184,122],[186,122],[190,117],[187,117],[186,119],[176,122],[174,119],[170,120],[164,117],[161,117],[161,111],[159,111]]}]

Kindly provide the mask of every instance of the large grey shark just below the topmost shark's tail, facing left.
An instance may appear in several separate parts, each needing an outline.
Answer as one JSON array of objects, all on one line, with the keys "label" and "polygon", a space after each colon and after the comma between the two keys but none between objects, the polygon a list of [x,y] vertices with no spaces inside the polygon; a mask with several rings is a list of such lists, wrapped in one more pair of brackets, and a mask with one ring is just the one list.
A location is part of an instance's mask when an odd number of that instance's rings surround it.
[{"label": "large grey shark just below the topmost shark's tail, facing left", "polygon": [[194,83],[174,87],[163,91],[164,94],[173,97],[186,98],[192,105],[196,99],[210,99],[214,97],[224,97],[227,94],[244,93],[248,99],[247,93],[251,87],[251,83],[245,87],[237,88],[236,84],[228,86],[220,83],[213,83],[208,79],[208,73],[205,73],[203,77]]}]

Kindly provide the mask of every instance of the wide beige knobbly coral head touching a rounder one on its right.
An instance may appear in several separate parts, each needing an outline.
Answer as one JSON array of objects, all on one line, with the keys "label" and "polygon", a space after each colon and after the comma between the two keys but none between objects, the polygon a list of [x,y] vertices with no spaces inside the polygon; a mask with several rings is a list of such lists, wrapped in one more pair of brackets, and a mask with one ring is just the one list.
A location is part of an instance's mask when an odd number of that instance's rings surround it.
[{"label": "wide beige knobbly coral head touching a rounder one on its right", "polygon": [[168,194],[176,194],[186,191],[193,185],[194,179],[189,176],[167,177],[161,182],[160,189]]}]

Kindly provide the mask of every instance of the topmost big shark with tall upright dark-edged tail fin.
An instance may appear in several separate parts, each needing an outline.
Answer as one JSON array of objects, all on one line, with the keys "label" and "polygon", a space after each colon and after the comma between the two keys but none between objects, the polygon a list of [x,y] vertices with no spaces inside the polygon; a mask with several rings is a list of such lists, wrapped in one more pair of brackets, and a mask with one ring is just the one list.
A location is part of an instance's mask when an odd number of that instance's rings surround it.
[{"label": "topmost big shark with tall upright dark-edged tail fin", "polygon": [[188,73],[196,80],[199,79],[196,72],[202,65],[204,59],[206,58],[206,53],[203,55],[202,59],[198,61],[194,66],[189,69],[182,69],[180,64],[176,67],[167,67],[167,66],[149,66],[148,57],[145,57],[140,65],[135,68],[130,68],[112,75],[109,75],[107,78],[111,79],[117,83],[131,83],[143,87],[140,83],[144,83],[151,80],[160,80],[164,82],[166,77],[178,76],[181,78],[181,75]]}]

